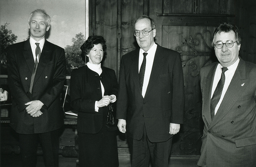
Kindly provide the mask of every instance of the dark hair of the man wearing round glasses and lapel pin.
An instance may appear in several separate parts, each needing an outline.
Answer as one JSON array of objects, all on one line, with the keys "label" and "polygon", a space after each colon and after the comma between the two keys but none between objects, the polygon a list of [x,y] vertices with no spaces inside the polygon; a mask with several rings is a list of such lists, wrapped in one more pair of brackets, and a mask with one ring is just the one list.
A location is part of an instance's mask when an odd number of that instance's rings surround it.
[{"label": "dark hair of the man wearing round glasses and lapel pin", "polygon": [[[230,31],[233,31],[236,34],[237,44],[240,45],[242,43],[240,32],[239,32],[238,28],[236,27],[236,25],[232,25],[232,24],[229,24],[229,23],[220,24],[215,29],[215,31],[213,33],[213,41],[214,41],[214,38],[215,38],[217,33],[219,33],[219,34],[221,32],[229,33]],[[214,42],[212,42],[212,46],[214,46]]]}]

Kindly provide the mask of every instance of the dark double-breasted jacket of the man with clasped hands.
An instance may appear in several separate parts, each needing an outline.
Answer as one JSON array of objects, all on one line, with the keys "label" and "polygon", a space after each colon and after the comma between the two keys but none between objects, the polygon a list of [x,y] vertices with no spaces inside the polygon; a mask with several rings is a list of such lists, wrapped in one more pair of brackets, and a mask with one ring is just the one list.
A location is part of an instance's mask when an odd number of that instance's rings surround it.
[{"label": "dark double-breasted jacket of the man with clasped hands", "polygon": [[[44,43],[35,74],[33,92],[29,93],[34,58],[29,39],[8,47],[8,84],[13,96],[10,126],[18,133],[50,132],[63,125],[59,95],[66,78],[65,52],[47,40]],[[32,117],[25,111],[25,103],[43,102],[42,115]]]}]

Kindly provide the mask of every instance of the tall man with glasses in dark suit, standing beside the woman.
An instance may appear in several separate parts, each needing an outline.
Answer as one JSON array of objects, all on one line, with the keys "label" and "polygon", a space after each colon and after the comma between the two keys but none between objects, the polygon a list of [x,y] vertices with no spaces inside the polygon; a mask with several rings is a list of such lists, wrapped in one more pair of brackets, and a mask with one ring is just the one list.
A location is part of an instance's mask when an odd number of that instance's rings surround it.
[{"label": "tall man with glasses in dark suit, standing beside the woman", "polygon": [[117,98],[119,131],[127,132],[132,167],[168,167],[172,137],[183,123],[180,54],[154,42],[155,21],[135,21],[139,48],[122,56]]}]

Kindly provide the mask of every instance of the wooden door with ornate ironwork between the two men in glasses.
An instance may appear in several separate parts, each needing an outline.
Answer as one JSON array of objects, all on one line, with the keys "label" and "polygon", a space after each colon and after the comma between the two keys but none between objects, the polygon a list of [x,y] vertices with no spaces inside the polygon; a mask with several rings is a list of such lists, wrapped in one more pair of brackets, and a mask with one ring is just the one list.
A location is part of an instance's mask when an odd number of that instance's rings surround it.
[{"label": "wooden door with ornate ironwork between the two men in glasses", "polygon": [[200,155],[203,121],[200,69],[215,61],[211,46],[215,28],[232,22],[233,1],[150,1],[150,17],[157,22],[156,42],[180,53],[185,110],[184,124],[172,144],[172,155]]}]

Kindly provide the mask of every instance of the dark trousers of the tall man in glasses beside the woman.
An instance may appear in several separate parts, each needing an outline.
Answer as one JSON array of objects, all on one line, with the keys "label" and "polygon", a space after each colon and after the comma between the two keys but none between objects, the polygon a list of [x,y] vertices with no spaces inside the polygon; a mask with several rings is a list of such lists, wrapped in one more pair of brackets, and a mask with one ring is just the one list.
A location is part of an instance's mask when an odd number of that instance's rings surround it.
[{"label": "dark trousers of the tall man in glasses beside the woman", "polygon": [[132,157],[132,167],[148,167],[151,159],[152,167],[168,167],[172,146],[172,138],[166,142],[152,143],[147,137],[144,127],[143,137],[134,140],[128,137]]}]

